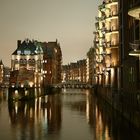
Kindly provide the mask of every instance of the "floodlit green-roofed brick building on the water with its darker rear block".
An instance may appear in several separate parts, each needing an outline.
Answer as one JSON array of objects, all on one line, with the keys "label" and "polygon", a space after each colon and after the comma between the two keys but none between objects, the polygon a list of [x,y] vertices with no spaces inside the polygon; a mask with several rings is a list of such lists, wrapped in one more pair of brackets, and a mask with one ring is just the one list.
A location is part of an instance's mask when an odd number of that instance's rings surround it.
[{"label": "floodlit green-roofed brick building on the water with its darker rear block", "polygon": [[10,86],[41,87],[60,83],[61,63],[57,40],[48,43],[29,39],[18,41],[11,59]]}]

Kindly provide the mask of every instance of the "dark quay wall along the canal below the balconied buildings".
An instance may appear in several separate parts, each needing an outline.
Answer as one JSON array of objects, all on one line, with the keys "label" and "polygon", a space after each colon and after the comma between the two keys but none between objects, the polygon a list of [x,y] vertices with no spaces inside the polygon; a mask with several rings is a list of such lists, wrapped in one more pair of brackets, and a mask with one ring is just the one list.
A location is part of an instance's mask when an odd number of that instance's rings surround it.
[{"label": "dark quay wall along the canal below the balconied buildings", "polygon": [[94,94],[105,100],[140,132],[140,94],[97,86]]}]

